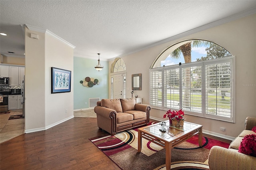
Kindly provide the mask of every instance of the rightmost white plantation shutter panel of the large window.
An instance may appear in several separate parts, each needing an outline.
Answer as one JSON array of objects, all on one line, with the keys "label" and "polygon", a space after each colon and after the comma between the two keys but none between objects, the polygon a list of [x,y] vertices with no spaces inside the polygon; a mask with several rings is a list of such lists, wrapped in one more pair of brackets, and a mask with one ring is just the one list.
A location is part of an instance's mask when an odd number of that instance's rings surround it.
[{"label": "rightmost white plantation shutter panel of the large window", "polygon": [[206,64],[206,114],[229,117],[231,113],[230,92],[232,87],[231,63]]}]

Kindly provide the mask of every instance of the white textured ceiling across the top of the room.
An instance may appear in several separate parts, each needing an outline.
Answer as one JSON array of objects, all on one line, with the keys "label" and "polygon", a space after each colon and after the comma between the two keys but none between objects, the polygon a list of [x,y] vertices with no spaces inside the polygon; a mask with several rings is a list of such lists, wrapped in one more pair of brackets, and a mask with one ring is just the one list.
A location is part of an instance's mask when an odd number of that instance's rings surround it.
[{"label": "white textured ceiling across the top of the room", "polygon": [[248,10],[256,0],[0,0],[0,52],[24,56],[27,24],[76,46],[74,56],[112,59]]}]

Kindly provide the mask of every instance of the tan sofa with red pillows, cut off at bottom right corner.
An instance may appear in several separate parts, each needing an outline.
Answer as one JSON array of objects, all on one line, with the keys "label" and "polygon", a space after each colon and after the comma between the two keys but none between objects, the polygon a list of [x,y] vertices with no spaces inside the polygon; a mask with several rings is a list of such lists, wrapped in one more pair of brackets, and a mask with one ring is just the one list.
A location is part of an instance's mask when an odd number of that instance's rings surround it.
[{"label": "tan sofa with red pillows, cut off at bottom right corner", "polygon": [[256,118],[247,117],[245,130],[231,143],[229,148],[213,146],[208,157],[210,170],[256,170],[256,157],[238,152],[244,136],[256,134],[252,128],[256,126]]}]

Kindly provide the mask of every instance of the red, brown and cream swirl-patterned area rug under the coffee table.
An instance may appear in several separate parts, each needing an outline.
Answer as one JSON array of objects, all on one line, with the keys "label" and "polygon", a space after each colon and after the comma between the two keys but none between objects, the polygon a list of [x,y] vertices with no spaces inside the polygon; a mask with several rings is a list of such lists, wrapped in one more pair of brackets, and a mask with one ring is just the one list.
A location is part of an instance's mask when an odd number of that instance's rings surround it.
[{"label": "red, brown and cream swirl-patterned area rug under the coffee table", "polygon": [[[138,149],[137,128],[119,132],[114,136],[98,136],[89,139],[122,170],[166,170],[165,149],[142,138],[142,150]],[[208,155],[212,146],[228,148],[229,144],[203,137],[198,145],[198,135],[182,142],[171,150],[171,170],[208,170]]]}]

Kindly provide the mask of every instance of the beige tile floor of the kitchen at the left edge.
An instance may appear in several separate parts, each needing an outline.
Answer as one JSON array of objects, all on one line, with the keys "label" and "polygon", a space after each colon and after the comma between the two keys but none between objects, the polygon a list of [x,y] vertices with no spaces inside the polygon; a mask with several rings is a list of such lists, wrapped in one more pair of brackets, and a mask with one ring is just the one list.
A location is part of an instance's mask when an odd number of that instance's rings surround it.
[{"label": "beige tile floor of the kitchen at the left edge", "polygon": [[8,120],[11,115],[22,115],[22,111],[0,114],[0,143],[24,133],[25,119]]}]

